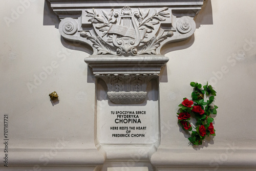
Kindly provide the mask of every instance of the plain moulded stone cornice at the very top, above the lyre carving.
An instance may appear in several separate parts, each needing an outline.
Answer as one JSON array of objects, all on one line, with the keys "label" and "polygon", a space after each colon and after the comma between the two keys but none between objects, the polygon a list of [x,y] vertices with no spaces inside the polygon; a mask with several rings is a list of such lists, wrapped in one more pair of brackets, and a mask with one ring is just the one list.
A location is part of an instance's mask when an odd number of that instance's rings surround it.
[{"label": "plain moulded stone cornice at the very top, above the lyre carving", "polygon": [[[60,17],[71,17],[71,15],[81,15],[82,10],[91,8],[122,8],[124,6],[134,8],[157,8],[168,7],[177,14],[195,17],[198,11],[201,10],[204,0],[126,0],[126,1],[102,1],[102,0],[48,0],[51,3],[51,8]],[[184,16],[184,15],[182,15]]]}]

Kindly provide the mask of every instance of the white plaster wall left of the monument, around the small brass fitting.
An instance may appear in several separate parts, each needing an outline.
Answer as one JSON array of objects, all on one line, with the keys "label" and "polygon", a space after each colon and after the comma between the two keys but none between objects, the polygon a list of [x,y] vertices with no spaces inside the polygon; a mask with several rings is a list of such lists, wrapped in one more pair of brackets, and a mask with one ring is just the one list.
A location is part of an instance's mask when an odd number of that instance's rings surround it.
[{"label": "white plaster wall left of the monument, around the small brass fitting", "polygon": [[[1,10],[1,115],[9,114],[12,148],[44,148],[56,138],[70,141],[66,147],[82,148],[94,143],[94,83],[87,83],[88,54],[67,51],[54,26],[43,26],[44,1],[34,1],[7,27],[22,1],[5,1]],[[66,51],[67,52],[66,52]],[[65,53],[65,52],[66,53]],[[27,83],[45,72],[42,67],[56,65],[37,81],[31,91]],[[45,76],[42,76],[44,78]],[[52,105],[49,93],[56,91],[59,104]],[[88,117],[92,116],[92,117]],[[3,121],[3,117],[1,118]],[[84,136],[86,135],[86,136]]]}]

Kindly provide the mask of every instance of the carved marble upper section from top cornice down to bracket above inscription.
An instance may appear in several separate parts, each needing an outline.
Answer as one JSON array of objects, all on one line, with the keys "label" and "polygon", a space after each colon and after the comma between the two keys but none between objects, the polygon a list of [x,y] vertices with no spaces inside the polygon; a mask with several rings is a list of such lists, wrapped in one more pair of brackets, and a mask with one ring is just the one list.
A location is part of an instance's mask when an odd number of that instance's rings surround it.
[{"label": "carved marble upper section from top cornice down to bracket above inscription", "polygon": [[85,61],[105,81],[110,100],[121,104],[145,99],[147,82],[168,61],[161,48],[194,34],[194,17],[203,5],[203,0],[48,1],[61,19],[62,37],[93,48]]}]

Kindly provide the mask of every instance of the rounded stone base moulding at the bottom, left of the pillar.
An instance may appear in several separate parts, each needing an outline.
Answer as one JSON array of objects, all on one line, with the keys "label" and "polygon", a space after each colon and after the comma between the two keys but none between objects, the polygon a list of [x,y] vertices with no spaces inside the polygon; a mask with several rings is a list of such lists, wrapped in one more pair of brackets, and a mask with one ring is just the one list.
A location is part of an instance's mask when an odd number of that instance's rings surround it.
[{"label": "rounded stone base moulding at the bottom, left of the pillar", "polygon": [[[4,149],[0,149],[4,151]],[[17,166],[81,166],[96,167],[104,163],[97,149],[31,149],[12,148],[8,167]]]}]

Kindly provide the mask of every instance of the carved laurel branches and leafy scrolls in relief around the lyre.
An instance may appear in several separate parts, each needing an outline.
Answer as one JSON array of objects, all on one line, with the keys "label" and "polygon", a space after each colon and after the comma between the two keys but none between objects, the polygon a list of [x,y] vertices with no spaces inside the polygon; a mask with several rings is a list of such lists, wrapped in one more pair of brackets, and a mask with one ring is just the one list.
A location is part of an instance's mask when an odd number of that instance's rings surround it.
[{"label": "carved laurel branches and leafy scrolls in relief around the lyre", "polygon": [[[155,30],[155,25],[159,25],[161,21],[164,21],[167,17],[170,17],[170,13],[167,11],[168,8],[161,8],[158,11],[148,10],[132,12],[130,7],[123,7],[121,14],[114,12],[111,9],[109,13],[101,11],[102,14],[98,13],[95,9],[86,10],[88,13],[86,16],[90,17],[88,22],[95,25],[95,28],[102,32],[102,37],[106,36],[107,40],[104,41],[100,36],[91,36],[87,32],[82,31],[80,35],[86,37],[93,42],[93,47],[98,50],[98,55],[112,54],[112,55],[141,55],[141,54],[157,54],[156,49],[160,46],[160,43],[167,37],[173,36],[173,32],[165,32],[160,36],[153,36],[150,40],[145,40],[148,38],[148,33]],[[133,27],[138,29],[136,32],[136,37],[130,36],[130,39],[123,39],[125,36],[118,35],[111,32],[111,28],[114,25],[120,25],[120,16],[127,16],[126,25],[129,25],[129,18],[132,21]],[[124,17],[125,18],[125,17]],[[125,23],[123,24],[125,25]],[[129,37],[129,36],[128,36]],[[116,44],[115,44],[115,41]],[[140,45],[140,43],[142,45]],[[114,45],[110,47],[110,45]]]}]

